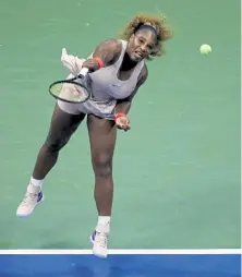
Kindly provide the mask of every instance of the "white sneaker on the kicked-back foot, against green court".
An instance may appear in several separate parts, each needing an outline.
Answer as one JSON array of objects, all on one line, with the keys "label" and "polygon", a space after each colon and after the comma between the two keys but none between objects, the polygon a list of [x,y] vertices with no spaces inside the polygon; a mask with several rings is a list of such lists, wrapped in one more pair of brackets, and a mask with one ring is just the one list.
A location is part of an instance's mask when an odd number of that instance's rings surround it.
[{"label": "white sneaker on the kicked-back foot, against green court", "polygon": [[27,192],[16,210],[17,217],[29,216],[35,207],[44,201],[44,194],[40,186],[35,186],[32,183],[27,186]]}]

